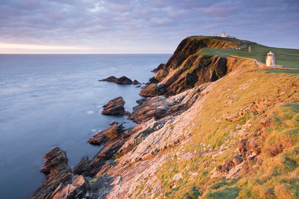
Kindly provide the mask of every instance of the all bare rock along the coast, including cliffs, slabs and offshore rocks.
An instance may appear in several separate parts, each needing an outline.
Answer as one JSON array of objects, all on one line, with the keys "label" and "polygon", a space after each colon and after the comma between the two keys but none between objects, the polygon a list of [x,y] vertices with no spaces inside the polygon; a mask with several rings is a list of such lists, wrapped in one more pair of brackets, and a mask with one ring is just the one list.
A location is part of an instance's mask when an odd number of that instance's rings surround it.
[{"label": "all bare rock along the coast, including cliffs, slabs and offshore rocks", "polygon": [[[240,80],[240,74],[252,73],[255,69],[248,67],[250,62],[240,59],[198,54],[204,47],[230,48],[231,45],[212,39],[184,39],[172,57],[165,64],[160,64],[153,70],[157,73],[149,79],[150,83],[147,83],[147,87],[141,87],[143,90],[140,91],[140,95],[144,98],[136,101],[138,105],[133,108],[132,113],[125,111],[125,101],[121,96],[110,100],[103,106],[102,114],[126,114],[128,119],[137,124],[125,129],[122,124],[110,123],[108,128],[88,140],[90,144],[103,144],[104,148],[91,160],[87,156],[83,157],[73,171],[67,166],[66,153],[58,147],[52,149],[45,155],[46,161],[44,169],[41,171],[49,173],[49,175],[43,186],[29,198],[89,199],[142,198],[145,196],[156,198],[157,193],[165,191],[165,186],[176,188],[186,173],[188,175],[185,176],[189,180],[198,176],[197,172],[182,170],[191,166],[195,167],[196,164],[199,165],[196,167],[201,168],[198,172],[201,172],[216,162],[217,167],[214,167],[213,171],[206,170],[205,172],[208,173],[204,175],[210,175],[210,178],[225,179],[240,176],[242,172],[256,167],[252,165],[262,164],[263,151],[261,148],[267,138],[262,132],[266,131],[271,119],[262,120],[255,127],[256,133],[249,137],[249,132],[247,134],[245,132],[247,128],[252,127],[250,123],[252,121],[243,122],[243,119],[240,118],[249,113],[255,116],[261,115],[265,112],[265,107],[275,103],[267,100],[251,102],[252,99],[248,97],[246,103],[250,101],[250,105],[242,104],[242,107],[237,107],[236,111],[231,108],[230,105],[234,102],[237,92],[245,92],[244,90],[257,80],[249,80],[244,85],[239,83],[235,87],[231,87],[230,81],[237,82]],[[118,79],[111,76],[99,81],[123,84],[138,83],[136,80],[132,82],[131,79],[124,76]],[[219,91],[219,88],[223,90]],[[228,91],[233,93],[226,94],[225,92]],[[221,104],[222,109],[229,107],[235,112],[228,109],[227,113],[216,118],[214,116],[216,113],[212,111],[218,102],[214,101],[208,104],[211,105],[210,109],[200,112],[207,106],[204,103],[211,98],[218,101],[225,98],[225,102]],[[206,112],[209,114],[203,116]],[[227,127],[227,129],[221,130],[220,125],[213,130],[214,134],[219,131],[225,132],[215,146],[206,145],[203,142],[193,143],[192,141],[197,137],[192,136],[203,130],[201,122],[207,118],[209,121],[216,122],[216,124],[213,123],[215,126],[218,125],[217,122],[237,122],[233,127],[234,131]],[[206,133],[208,134],[210,131],[212,130],[208,130]],[[202,137],[204,136],[202,135]],[[231,145],[225,146],[225,142],[230,142],[234,136],[239,136],[242,139],[236,139]],[[211,136],[208,139],[212,139]],[[193,144],[188,145],[191,142]],[[193,150],[186,150],[184,148],[186,145]],[[167,151],[171,147],[173,150]],[[236,148],[235,151],[233,147]],[[276,148],[269,148],[268,151],[270,151],[271,157],[274,157],[288,147],[277,144]],[[229,151],[229,153],[225,151]],[[222,157],[224,162],[217,160],[217,157],[224,153],[226,154],[225,157]],[[157,178],[157,173],[162,169],[161,165],[165,165],[166,162],[175,162],[174,164],[176,164],[183,160],[205,156],[211,156],[207,163],[203,163],[202,159],[194,165],[177,168],[181,169],[181,172],[166,179],[168,184],[163,184],[164,180],[160,181]],[[108,161],[111,159],[114,160],[113,163]],[[171,169],[173,168],[169,168],[168,171]],[[195,191],[199,192],[198,189]]]}]

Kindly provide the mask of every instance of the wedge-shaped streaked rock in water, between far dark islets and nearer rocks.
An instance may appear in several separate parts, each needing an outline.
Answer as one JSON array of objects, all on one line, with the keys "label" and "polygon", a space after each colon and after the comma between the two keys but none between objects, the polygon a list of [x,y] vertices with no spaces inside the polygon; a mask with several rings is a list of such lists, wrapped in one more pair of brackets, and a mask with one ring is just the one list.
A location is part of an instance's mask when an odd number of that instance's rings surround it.
[{"label": "wedge-shaped streaked rock in water, between far dark islets and nearer rocks", "polygon": [[104,110],[102,111],[103,115],[118,115],[118,114],[124,114],[125,108],[123,107],[125,105],[125,101],[123,101],[123,98],[121,96],[114,98],[113,100],[110,100],[107,104],[105,104]]}]

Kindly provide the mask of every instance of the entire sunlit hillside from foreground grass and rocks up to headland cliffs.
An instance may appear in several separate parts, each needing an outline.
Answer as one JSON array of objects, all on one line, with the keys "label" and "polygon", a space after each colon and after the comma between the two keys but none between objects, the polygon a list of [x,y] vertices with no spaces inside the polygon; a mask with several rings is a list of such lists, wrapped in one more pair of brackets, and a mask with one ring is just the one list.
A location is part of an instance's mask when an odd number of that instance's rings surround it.
[{"label": "entire sunlit hillside from foreground grass and rocks up to headland cliffs", "polygon": [[137,124],[95,135],[105,147],[73,171],[52,149],[30,198],[298,198],[298,73],[214,51],[233,43],[184,39],[128,113]]}]

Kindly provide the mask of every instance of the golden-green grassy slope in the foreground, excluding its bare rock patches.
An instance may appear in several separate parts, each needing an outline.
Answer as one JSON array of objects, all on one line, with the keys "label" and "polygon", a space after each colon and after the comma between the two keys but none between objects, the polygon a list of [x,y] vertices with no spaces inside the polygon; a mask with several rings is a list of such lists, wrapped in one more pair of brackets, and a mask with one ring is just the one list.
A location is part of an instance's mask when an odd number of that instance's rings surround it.
[{"label": "golden-green grassy slope in the foreground, excluding its bare rock patches", "polygon": [[[247,68],[229,78],[222,78],[218,87],[207,94],[203,109],[198,110],[192,120],[196,127],[192,129],[192,141],[180,146],[169,159],[161,165],[157,177],[165,191],[160,197],[168,198],[295,198],[299,197],[299,77],[292,74],[267,73],[254,68],[247,62]],[[245,63],[246,65],[246,63]],[[246,88],[246,89],[244,89]],[[267,88],[267,89],[265,89]],[[283,92],[284,91],[284,92]],[[283,93],[282,93],[283,92]],[[223,106],[231,96],[233,102]],[[259,113],[249,112],[234,121],[225,120],[223,115],[234,114],[250,103],[259,103],[267,99]],[[273,103],[281,103],[274,107]],[[250,137],[256,132],[256,125],[266,117],[275,118],[271,126],[265,130],[268,138],[263,146],[263,164],[256,166],[251,172],[245,172],[236,179],[225,180],[222,177],[210,179],[210,172],[219,164],[223,164],[230,152],[237,149],[240,136],[229,137],[230,131],[237,131],[236,126],[250,120],[251,127],[246,129]],[[175,127],[174,127],[175,130]],[[292,146],[276,157],[270,157],[267,147],[281,138],[288,138]],[[205,144],[205,145],[203,145]],[[211,155],[196,156],[191,160],[180,161],[177,151],[202,151],[220,145],[229,150],[217,157]],[[204,147],[210,146],[210,147]],[[251,162],[252,166],[255,162]],[[193,178],[192,173],[198,175]],[[184,179],[173,182],[171,179],[182,173]],[[172,186],[176,184],[176,187]]]}]

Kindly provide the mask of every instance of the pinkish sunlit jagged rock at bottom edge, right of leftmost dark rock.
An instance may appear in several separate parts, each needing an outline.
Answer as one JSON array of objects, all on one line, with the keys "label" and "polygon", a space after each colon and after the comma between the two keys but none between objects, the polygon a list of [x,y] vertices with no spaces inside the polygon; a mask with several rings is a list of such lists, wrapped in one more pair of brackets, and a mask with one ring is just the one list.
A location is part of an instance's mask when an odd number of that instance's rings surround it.
[{"label": "pinkish sunlit jagged rock at bottom edge, right of leftmost dark rock", "polygon": [[93,199],[93,191],[89,182],[79,175],[71,184],[63,185],[62,183],[56,188],[51,199]]}]

